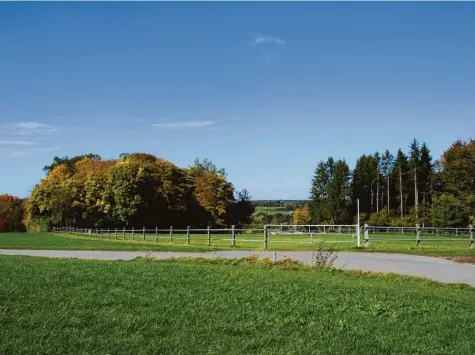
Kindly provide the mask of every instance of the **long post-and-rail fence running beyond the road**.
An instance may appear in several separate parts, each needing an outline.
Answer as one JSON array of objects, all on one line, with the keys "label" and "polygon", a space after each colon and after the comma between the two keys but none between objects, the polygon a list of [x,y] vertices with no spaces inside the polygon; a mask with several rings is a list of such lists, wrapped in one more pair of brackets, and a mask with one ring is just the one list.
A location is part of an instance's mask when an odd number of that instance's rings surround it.
[{"label": "long post-and-rail fence running beyond the road", "polygon": [[362,228],[355,225],[290,225],[271,224],[263,228],[54,228],[53,232],[88,235],[106,239],[137,240],[150,242],[199,243],[211,246],[221,244],[236,246],[237,243],[262,243],[268,248],[270,243],[279,245],[314,244],[321,240],[331,243],[356,242],[360,246],[360,234],[364,233],[364,246],[370,242],[466,242],[474,247],[473,226],[468,228],[437,227],[384,227],[365,224]]}]

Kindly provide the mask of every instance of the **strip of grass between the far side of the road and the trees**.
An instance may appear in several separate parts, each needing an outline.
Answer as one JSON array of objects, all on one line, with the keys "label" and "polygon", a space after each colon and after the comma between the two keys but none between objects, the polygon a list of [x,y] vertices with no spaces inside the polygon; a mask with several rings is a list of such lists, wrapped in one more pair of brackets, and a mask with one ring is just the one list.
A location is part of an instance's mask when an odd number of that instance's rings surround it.
[{"label": "strip of grass between the far side of the road and the trees", "polygon": [[[236,235],[236,245],[233,247],[231,235],[221,234],[211,236],[211,246],[208,246],[206,234],[192,234],[190,244],[185,234],[174,234],[170,241],[168,235],[159,235],[158,241],[153,234],[146,234],[145,240],[141,234],[87,236],[59,233],[0,233],[0,249],[70,249],[70,250],[131,250],[131,251],[210,251],[210,250],[264,250],[262,234]],[[363,238],[363,237],[362,237]],[[370,247],[356,247],[356,239],[350,235],[271,235],[269,250],[315,250],[321,241],[326,246],[339,251],[364,251],[407,253],[436,256],[467,256],[475,260],[475,249],[469,248],[468,238],[463,240],[447,240],[449,237],[422,237],[421,248],[416,249],[415,236],[408,235],[371,235]],[[394,240],[403,238],[406,240]],[[426,240],[426,239],[431,239]],[[457,238],[453,238],[457,239]],[[460,239],[460,238],[459,238]]]}]

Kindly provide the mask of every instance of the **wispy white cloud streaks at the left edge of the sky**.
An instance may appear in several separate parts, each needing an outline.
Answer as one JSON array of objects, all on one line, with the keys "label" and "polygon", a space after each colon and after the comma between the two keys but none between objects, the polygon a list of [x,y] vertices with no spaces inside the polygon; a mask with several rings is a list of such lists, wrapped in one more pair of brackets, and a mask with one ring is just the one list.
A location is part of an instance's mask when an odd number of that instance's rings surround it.
[{"label": "wispy white cloud streaks at the left edge of the sky", "polygon": [[58,134],[56,127],[36,121],[0,124],[0,155],[19,157],[55,150],[58,147],[51,146],[51,140]]}]

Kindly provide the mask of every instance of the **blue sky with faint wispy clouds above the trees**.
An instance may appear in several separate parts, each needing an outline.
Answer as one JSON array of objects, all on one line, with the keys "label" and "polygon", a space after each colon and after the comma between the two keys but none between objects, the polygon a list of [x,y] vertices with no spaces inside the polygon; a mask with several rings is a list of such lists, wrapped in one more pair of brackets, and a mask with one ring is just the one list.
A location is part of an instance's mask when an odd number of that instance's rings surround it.
[{"label": "blue sky with faint wispy clouds above the trees", "polygon": [[207,157],[256,199],[475,136],[474,3],[1,3],[0,193],[58,156]]}]

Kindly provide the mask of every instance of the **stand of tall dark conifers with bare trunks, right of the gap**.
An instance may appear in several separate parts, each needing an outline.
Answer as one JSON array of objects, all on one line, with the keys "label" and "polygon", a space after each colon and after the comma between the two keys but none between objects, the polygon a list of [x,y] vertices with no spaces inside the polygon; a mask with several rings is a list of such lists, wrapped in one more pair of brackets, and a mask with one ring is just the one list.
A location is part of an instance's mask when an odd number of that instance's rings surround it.
[{"label": "stand of tall dark conifers with bare trunks, right of the gap", "polygon": [[314,173],[309,211],[313,223],[467,226],[475,215],[475,141],[456,141],[433,161],[416,139],[404,153],[363,154],[353,171],[329,157]]}]

